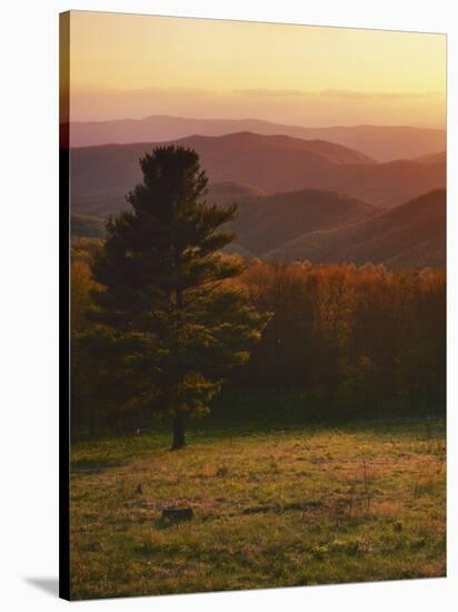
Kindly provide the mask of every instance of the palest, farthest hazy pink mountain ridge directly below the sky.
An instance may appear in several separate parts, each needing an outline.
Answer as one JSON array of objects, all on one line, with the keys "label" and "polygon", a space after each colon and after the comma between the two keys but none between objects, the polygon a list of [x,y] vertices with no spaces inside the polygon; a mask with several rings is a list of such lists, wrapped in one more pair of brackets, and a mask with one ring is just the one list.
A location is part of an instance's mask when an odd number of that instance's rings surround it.
[{"label": "palest, farthest hazy pink mountain ridge directly below the sky", "polygon": [[117,121],[76,121],[71,124],[71,146],[177,140],[189,136],[223,136],[251,131],[283,135],[305,140],[328,140],[357,149],[378,161],[410,159],[446,149],[444,129],[409,126],[336,126],[308,128],[258,119],[188,119],[151,116]]}]

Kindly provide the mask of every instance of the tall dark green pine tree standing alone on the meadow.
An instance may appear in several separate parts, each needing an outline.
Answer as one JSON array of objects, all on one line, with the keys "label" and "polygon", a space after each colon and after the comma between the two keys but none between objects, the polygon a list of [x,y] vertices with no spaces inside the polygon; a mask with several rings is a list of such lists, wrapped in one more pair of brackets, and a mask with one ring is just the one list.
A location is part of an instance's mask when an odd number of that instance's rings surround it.
[{"label": "tall dark green pine tree standing alone on the meadow", "polygon": [[180,448],[186,414],[208,412],[267,318],[231,280],[242,265],[220,253],[233,239],[220,226],[237,206],[207,204],[197,152],[158,147],[140,166],[143,181],[127,196],[131,210],[107,223],[92,264],[101,289],[92,294],[98,325],[88,346],[107,358],[113,398],[169,414],[172,448]]}]

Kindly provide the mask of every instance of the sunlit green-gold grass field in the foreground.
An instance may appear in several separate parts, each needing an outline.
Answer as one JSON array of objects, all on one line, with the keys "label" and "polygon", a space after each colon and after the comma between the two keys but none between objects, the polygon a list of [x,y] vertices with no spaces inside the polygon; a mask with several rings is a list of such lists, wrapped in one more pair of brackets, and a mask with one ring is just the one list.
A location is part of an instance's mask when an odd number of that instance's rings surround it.
[{"label": "sunlit green-gold grass field in the foreground", "polygon": [[[178,452],[166,431],[74,443],[72,599],[445,575],[444,421],[281,405],[243,419],[239,398]],[[173,505],[193,519],[163,522]]]}]

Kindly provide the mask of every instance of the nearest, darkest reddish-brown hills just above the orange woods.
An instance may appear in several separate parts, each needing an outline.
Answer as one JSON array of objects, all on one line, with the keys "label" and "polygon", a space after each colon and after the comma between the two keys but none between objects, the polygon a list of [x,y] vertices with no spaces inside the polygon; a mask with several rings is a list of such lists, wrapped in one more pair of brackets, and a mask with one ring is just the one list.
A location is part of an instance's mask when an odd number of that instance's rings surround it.
[{"label": "nearest, darkest reddish-brown hills just above the orange woods", "polygon": [[[236,185],[215,186],[238,193]],[[446,191],[437,189],[389,210],[322,190],[253,195],[240,189],[237,237],[226,250],[243,257],[387,266],[446,264]],[[229,201],[229,200],[228,200]],[[73,236],[102,237],[103,219],[71,216]]]}]

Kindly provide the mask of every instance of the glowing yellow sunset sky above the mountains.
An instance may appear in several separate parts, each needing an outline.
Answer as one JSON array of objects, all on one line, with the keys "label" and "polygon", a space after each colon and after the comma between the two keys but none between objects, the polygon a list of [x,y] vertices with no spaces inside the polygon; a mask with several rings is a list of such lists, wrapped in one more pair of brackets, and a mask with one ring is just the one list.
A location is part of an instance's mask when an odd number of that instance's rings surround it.
[{"label": "glowing yellow sunset sky above the mountains", "polygon": [[71,120],[446,121],[446,37],[71,12]]}]

